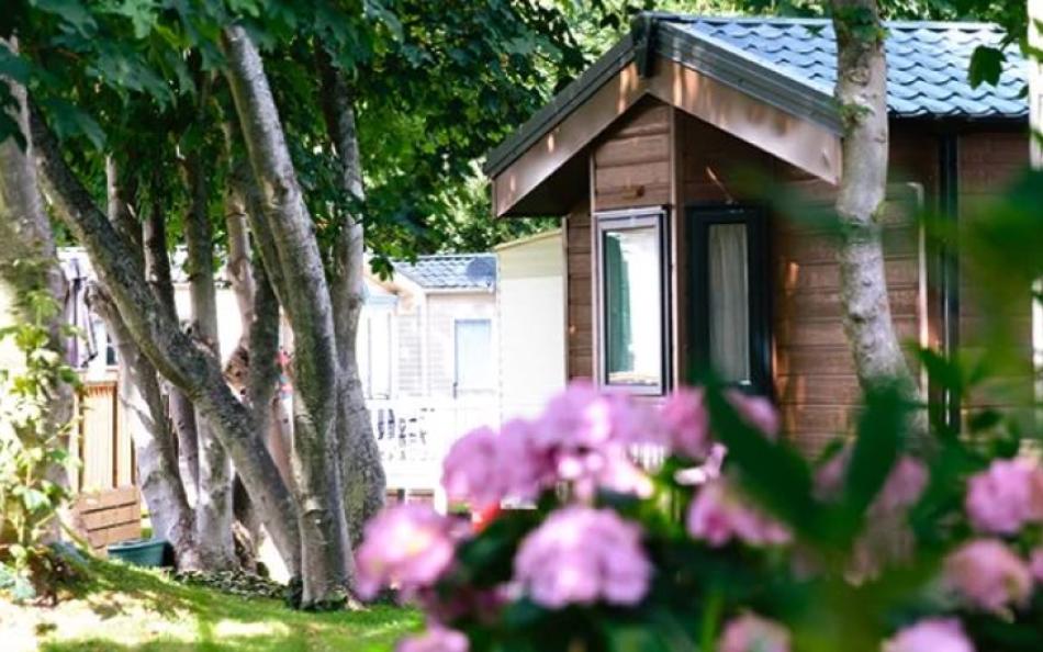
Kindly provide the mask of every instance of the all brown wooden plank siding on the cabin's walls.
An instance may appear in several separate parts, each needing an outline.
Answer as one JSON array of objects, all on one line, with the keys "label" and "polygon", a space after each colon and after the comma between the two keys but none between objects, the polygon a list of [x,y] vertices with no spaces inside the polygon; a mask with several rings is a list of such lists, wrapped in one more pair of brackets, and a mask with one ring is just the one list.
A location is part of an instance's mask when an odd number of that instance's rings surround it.
[{"label": "all brown wooden plank siding on the cabin's walls", "polygon": [[[939,348],[945,341],[941,288],[929,263],[916,205],[940,209],[941,137],[934,127],[891,125],[891,183],[884,226],[885,267],[891,315],[899,338]],[[568,261],[568,375],[593,378],[597,359],[591,215],[597,211],[668,206],[671,236],[670,292],[673,305],[671,351],[673,381],[684,376],[689,342],[683,327],[687,313],[686,279],[691,261],[684,240],[685,209],[697,204],[764,203],[766,184],[799,193],[811,203],[832,204],[835,187],[775,158],[688,113],[643,100],[606,130],[585,154],[590,164],[590,200],[565,220]],[[1024,134],[977,134],[960,137],[960,205],[1003,188],[1028,157]],[[753,183],[751,183],[753,179]],[[770,225],[773,390],[787,436],[809,452],[851,431],[860,389],[843,330],[837,246],[810,223],[772,215]],[[961,346],[975,346],[982,315],[961,299]],[[1031,347],[1030,304],[1024,315]],[[1025,351],[1025,360],[1031,357]],[[913,372],[919,371],[909,356]],[[922,379],[921,379],[922,380]],[[1018,379],[1011,379],[1017,381]],[[987,394],[978,404],[997,400]]]}]

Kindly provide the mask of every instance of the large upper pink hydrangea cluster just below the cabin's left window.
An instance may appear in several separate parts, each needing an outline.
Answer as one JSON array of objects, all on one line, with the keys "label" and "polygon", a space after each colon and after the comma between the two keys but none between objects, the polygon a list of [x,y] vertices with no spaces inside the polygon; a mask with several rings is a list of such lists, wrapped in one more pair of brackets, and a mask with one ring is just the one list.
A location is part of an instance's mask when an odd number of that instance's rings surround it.
[{"label": "large upper pink hydrangea cluster just below the cabin's left window", "polygon": [[651,483],[628,448],[650,440],[649,417],[621,394],[576,382],[536,420],[512,420],[498,434],[479,428],[458,440],[446,456],[442,485],[479,506],[532,498],[559,482],[581,496],[598,486],[646,495]]}]

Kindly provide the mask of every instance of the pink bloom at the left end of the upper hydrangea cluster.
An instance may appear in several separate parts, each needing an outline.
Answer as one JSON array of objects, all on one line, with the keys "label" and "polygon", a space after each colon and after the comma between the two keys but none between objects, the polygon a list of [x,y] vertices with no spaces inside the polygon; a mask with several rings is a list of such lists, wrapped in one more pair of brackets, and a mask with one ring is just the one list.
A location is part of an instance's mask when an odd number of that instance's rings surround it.
[{"label": "pink bloom at the left end of the upper hydrangea cluster", "polygon": [[441,485],[452,497],[471,501],[479,507],[504,497],[496,432],[478,428],[458,439],[442,462]]}]

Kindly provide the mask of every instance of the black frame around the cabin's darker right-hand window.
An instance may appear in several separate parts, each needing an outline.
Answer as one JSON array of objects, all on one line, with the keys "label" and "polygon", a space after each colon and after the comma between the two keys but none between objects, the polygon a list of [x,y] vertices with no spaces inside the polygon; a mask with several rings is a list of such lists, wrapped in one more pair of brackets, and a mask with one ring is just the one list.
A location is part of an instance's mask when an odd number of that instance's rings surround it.
[{"label": "black frame around the cabin's darker right-hand window", "polygon": [[[747,278],[749,279],[750,315],[750,385],[743,391],[772,397],[772,292],[771,214],[756,205],[694,204],[686,210],[687,267],[691,300],[687,305],[688,381],[702,380],[709,352],[709,228],[718,224],[743,224],[747,227]],[[741,383],[740,383],[741,385]]]}]

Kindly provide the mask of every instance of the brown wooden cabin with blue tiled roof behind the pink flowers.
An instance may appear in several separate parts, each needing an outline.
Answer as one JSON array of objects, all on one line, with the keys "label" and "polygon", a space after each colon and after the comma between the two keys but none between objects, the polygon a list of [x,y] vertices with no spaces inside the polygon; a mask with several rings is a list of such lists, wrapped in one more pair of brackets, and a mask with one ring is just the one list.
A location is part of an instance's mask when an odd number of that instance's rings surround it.
[{"label": "brown wooden cabin with blue tiled roof behind the pink flowers", "polygon": [[[979,314],[911,217],[960,220],[1028,164],[1027,65],[1008,50],[1000,82],[972,89],[972,53],[999,29],[887,27],[893,317],[902,339],[952,350]],[[833,202],[834,80],[828,21],[641,14],[490,153],[495,217],[563,217],[570,378],[655,397],[710,362],[772,396],[809,449],[850,429],[834,241],[765,198]],[[1028,297],[1024,313],[1028,362]]]}]

